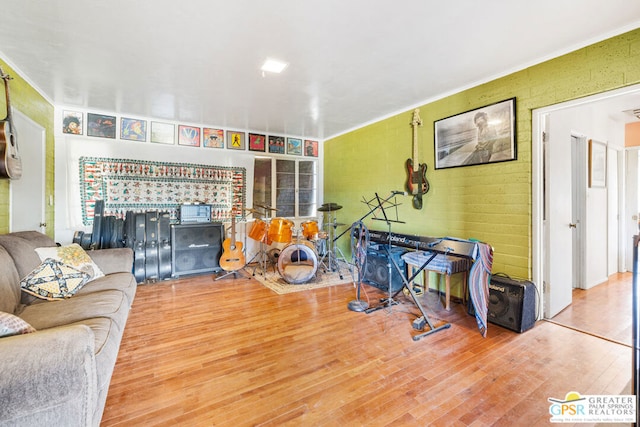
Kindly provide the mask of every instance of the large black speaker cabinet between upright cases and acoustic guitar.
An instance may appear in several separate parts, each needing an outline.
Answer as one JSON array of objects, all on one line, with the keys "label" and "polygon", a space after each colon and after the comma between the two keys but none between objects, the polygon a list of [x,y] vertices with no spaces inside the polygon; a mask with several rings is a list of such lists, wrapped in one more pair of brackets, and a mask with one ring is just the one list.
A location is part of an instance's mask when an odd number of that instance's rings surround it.
[{"label": "large black speaker cabinet between upright cases and acoustic guitar", "polygon": [[171,277],[212,273],[220,270],[224,225],[171,225]]}]

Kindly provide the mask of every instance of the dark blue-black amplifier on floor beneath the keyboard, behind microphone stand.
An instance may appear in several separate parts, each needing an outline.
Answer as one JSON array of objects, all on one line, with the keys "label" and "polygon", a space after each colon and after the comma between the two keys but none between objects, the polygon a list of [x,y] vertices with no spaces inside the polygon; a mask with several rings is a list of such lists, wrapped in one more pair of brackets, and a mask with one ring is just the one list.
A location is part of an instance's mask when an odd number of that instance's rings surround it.
[{"label": "dark blue-black amplifier on floor beneath the keyboard, behind microphone stand", "polygon": [[[390,263],[389,256],[385,250],[385,245],[369,245],[367,248],[367,265],[362,281],[378,289],[389,291],[389,265],[391,265],[391,293],[396,293],[402,289],[404,282],[402,276],[398,273],[395,266]],[[400,268],[400,271],[406,271],[406,264],[402,259],[402,255],[407,252],[404,248],[390,248],[391,259]]]}]

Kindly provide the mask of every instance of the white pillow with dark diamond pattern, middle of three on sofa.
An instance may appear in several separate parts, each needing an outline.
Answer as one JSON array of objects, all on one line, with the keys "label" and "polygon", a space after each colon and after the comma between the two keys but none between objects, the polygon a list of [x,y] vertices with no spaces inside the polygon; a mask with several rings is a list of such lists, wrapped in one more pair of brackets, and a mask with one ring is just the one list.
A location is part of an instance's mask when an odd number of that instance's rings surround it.
[{"label": "white pillow with dark diamond pattern, middle of three on sofa", "polygon": [[38,298],[55,300],[72,297],[89,281],[89,274],[47,258],[20,281],[22,290]]}]

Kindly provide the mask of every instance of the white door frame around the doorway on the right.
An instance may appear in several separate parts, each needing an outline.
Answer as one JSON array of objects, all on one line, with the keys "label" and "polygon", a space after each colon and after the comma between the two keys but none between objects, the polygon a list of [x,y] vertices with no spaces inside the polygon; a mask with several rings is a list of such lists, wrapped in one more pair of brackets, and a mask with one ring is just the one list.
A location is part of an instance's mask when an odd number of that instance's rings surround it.
[{"label": "white door frame around the doorway on the right", "polygon": [[[536,108],[531,111],[531,268],[532,280],[540,285],[544,283],[544,150],[542,135],[544,132],[544,117],[556,111],[589,104],[596,101],[628,95],[640,92],[640,85],[602,92],[589,97],[574,99],[559,104]],[[624,227],[624,224],[620,224]],[[544,286],[538,286],[538,320],[543,318],[544,313]]]}]

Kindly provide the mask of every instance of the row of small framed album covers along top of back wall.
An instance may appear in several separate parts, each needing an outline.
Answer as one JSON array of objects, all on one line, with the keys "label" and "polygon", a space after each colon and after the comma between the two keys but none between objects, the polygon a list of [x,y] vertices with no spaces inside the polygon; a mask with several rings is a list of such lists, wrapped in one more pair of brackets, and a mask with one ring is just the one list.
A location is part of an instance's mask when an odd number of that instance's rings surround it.
[{"label": "row of small framed album covers along top of back wall", "polygon": [[[87,113],[87,136],[99,138],[116,138],[118,130],[115,116]],[[83,135],[83,113],[64,111],[62,118],[62,132]],[[294,154],[318,157],[318,141],[301,138],[285,138],[284,136],[242,131],[178,125],[178,145],[189,147],[224,148],[232,150],[269,152],[274,154]],[[122,117],[120,119],[120,139],[129,141],[147,141],[147,121]],[[171,123],[151,122],[149,141],[159,144],[174,144],[175,125]]]}]

